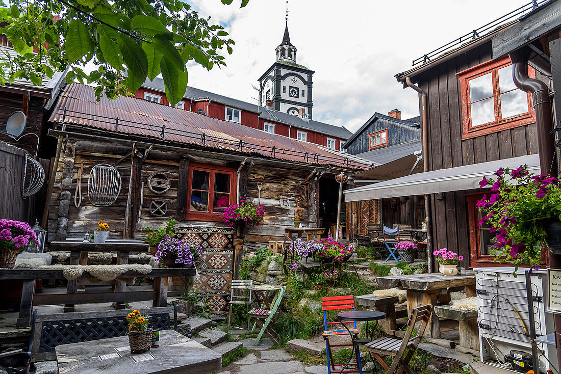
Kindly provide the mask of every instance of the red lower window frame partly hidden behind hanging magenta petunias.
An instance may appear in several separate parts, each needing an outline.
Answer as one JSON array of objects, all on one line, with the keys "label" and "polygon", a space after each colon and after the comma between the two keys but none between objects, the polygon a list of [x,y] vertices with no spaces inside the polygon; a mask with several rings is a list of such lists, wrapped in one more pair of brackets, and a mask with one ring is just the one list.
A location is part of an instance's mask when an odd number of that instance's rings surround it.
[{"label": "red lower window frame partly hidden behind hanging magenta petunias", "polygon": [[[481,255],[481,243],[479,240],[479,209],[475,204],[477,201],[485,195],[490,195],[491,192],[487,193],[471,193],[466,195],[467,201],[467,213],[468,213],[468,226],[470,228],[470,266],[473,267],[489,267],[489,266],[511,266],[510,264],[499,264],[499,262],[493,261],[495,256],[493,255]],[[542,258],[546,265],[549,265],[548,249],[545,248],[541,253]],[[528,267],[526,265],[521,265],[521,267]]]}]

